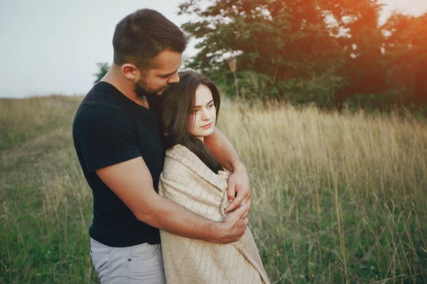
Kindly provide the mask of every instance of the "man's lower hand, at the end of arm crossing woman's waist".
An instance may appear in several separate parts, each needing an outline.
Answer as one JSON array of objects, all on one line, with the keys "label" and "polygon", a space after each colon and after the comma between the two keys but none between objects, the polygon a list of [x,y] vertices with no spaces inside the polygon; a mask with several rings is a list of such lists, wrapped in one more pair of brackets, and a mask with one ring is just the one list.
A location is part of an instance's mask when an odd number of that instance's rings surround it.
[{"label": "man's lower hand, at the end of arm crossing woman's waist", "polygon": [[213,240],[216,244],[228,244],[238,241],[248,226],[249,220],[248,207],[246,204],[241,204],[241,207],[234,210],[233,212],[226,214],[222,222],[218,223],[218,232],[221,233],[221,236],[218,240]]}]

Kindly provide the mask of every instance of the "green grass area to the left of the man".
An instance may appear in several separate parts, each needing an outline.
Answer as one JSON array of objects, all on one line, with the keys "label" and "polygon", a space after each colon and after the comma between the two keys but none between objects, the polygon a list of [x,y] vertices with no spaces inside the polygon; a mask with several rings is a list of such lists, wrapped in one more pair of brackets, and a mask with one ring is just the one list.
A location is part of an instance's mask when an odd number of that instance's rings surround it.
[{"label": "green grass area to the left of the man", "polygon": [[9,111],[1,116],[0,283],[97,283],[88,254],[92,193],[71,135],[81,99],[0,101]]}]

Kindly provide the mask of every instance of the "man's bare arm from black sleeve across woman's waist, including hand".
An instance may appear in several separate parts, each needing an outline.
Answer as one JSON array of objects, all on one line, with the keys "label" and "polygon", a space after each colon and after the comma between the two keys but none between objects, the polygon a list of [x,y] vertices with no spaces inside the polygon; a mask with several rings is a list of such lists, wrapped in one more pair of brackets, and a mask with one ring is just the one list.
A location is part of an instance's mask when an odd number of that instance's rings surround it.
[{"label": "man's bare arm from black sleeve across woman's waist, including hand", "polygon": [[125,202],[135,217],[172,234],[217,244],[237,241],[243,235],[248,207],[227,214],[223,222],[201,217],[154,191],[152,176],[141,157],[95,171],[105,184]]}]

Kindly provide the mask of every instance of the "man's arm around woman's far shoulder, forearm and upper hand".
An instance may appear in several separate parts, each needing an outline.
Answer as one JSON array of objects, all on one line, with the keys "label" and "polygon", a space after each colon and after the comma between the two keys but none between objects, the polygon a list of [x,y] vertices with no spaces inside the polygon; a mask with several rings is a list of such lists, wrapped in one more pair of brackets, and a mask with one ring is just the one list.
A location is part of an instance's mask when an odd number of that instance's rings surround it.
[{"label": "man's arm around woman's far shoulder, forearm and upper hand", "polygon": [[[226,213],[232,212],[242,203],[246,204],[248,209],[251,208],[251,185],[245,165],[238,157],[228,138],[218,129],[214,133],[204,138],[205,143],[209,146],[212,153],[218,159],[224,168],[231,171],[228,178],[228,200],[231,202],[225,210]],[[235,198],[236,197],[236,198]],[[243,218],[246,218],[243,215]]]}]

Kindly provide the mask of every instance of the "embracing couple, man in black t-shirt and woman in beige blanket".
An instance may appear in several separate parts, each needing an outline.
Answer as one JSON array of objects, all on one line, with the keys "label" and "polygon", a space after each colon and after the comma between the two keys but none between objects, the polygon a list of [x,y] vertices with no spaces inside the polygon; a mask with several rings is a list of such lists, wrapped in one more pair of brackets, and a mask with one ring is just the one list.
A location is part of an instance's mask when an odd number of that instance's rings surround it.
[{"label": "embracing couple, man in black t-shirt and woman in beige blanket", "polygon": [[112,67],[75,114],[101,283],[269,283],[247,227],[246,168],[215,128],[218,89],[178,72],[186,43],[157,11],[126,16]]}]

